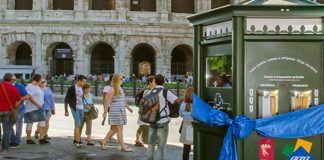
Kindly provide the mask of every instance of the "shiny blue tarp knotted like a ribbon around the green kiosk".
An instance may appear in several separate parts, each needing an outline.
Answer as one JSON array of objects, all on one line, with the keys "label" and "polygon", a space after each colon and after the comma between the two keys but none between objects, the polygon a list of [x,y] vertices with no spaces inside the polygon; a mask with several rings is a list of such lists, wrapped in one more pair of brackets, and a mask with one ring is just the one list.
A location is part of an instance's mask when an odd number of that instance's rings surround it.
[{"label": "shiny blue tarp knotted like a ribbon around the green kiosk", "polygon": [[324,133],[324,105],[261,119],[238,115],[232,120],[194,94],[192,116],[208,125],[229,126],[220,160],[238,160],[236,138],[245,139],[254,130],[260,136],[272,138],[300,138]]}]

